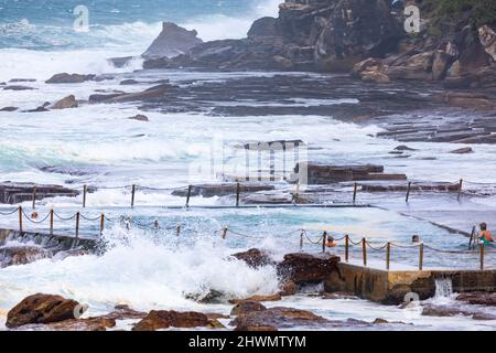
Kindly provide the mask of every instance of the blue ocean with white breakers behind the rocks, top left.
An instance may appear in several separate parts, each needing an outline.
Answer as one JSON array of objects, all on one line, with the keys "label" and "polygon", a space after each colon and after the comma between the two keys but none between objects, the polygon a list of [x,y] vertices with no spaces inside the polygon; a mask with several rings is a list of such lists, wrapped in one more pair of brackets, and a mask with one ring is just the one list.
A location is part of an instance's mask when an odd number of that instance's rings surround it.
[{"label": "blue ocean with white breakers behind the rocks, top left", "polygon": [[[252,21],[277,15],[279,0],[0,1],[0,82],[54,72],[111,72],[109,57],[143,53],[163,21],[197,30],[203,40],[246,36]],[[88,31],[74,9],[88,9]],[[33,65],[35,63],[35,65]],[[132,68],[139,68],[138,65]],[[115,69],[114,69],[115,71]]]}]

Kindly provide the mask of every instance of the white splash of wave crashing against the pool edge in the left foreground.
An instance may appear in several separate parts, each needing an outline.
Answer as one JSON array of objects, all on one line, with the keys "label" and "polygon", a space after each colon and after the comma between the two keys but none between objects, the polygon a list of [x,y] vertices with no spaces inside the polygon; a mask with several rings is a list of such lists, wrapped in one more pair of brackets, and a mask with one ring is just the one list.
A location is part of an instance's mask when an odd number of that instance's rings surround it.
[{"label": "white splash of wave crashing against the pool edge in the left foreground", "polygon": [[[130,303],[136,308],[188,309],[211,290],[228,298],[270,295],[278,290],[273,267],[252,269],[230,258],[234,249],[204,237],[176,246],[175,236],[150,238],[120,227],[105,234],[110,249],[103,256],[39,260],[0,271],[0,309],[34,292],[60,293],[93,306]],[[105,288],[103,288],[105,286]]]}]

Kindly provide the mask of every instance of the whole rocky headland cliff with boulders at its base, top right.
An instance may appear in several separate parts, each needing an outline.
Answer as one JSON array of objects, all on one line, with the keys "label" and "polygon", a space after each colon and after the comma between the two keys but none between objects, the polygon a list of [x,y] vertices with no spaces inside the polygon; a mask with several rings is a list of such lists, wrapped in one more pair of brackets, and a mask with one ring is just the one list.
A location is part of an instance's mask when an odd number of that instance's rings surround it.
[{"label": "whole rocky headland cliff with boulders at its base, top right", "polygon": [[[420,33],[403,29],[409,4],[420,8]],[[496,72],[495,29],[494,0],[287,0],[279,18],[257,20],[246,39],[198,44],[145,67],[353,69],[364,81],[468,87]]]}]

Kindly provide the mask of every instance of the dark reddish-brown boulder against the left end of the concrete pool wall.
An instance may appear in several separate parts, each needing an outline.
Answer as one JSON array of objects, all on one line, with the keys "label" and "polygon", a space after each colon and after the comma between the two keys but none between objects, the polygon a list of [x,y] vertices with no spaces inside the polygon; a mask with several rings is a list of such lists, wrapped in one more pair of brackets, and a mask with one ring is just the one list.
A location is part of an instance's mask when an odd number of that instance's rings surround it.
[{"label": "dark reddish-brown boulder against the left end of the concrete pool wall", "polygon": [[296,285],[317,284],[337,270],[339,260],[338,256],[330,254],[319,256],[303,253],[288,254],[277,268],[280,277]]}]

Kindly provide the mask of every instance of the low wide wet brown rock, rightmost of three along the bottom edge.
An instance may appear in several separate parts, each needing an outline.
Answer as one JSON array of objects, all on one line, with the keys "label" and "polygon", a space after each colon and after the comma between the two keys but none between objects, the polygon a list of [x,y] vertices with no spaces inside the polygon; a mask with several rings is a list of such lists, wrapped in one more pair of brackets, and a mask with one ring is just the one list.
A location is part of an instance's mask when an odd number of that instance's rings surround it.
[{"label": "low wide wet brown rock, rightmost of three along the bottom edge", "polygon": [[236,327],[236,331],[248,331],[257,328],[321,327],[327,322],[310,311],[276,307],[240,314],[230,324]]}]

